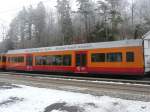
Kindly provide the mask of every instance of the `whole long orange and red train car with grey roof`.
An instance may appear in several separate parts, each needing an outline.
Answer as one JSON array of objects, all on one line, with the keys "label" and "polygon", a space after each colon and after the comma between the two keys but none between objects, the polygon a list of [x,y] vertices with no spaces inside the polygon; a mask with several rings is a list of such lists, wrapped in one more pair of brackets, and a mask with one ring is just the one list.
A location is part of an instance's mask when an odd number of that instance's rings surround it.
[{"label": "whole long orange and red train car with grey roof", "polygon": [[140,39],[10,50],[6,57],[8,70],[145,74],[144,47]]}]

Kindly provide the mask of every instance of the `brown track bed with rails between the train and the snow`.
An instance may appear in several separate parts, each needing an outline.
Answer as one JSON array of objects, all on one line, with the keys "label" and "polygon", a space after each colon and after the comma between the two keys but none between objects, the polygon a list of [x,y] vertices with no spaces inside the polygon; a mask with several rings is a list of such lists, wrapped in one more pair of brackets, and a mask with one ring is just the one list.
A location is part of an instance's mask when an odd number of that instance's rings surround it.
[{"label": "brown track bed with rails between the train and the snow", "polygon": [[[42,74],[41,74],[42,75]],[[93,95],[108,95],[123,99],[150,101],[150,85],[117,79],[67,77],[29,73],[0,72],[0,82],[52,88]],[[124,83],[125,82],[125,83]]]}]

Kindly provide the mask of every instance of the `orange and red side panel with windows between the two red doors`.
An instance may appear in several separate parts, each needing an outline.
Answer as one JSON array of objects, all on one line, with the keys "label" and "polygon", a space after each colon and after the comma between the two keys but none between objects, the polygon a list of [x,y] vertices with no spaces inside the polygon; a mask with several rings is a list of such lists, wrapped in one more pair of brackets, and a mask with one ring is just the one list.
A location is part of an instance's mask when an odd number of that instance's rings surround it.
[{"label": "orange and red side panel with windows between the two red doors", "polygon": [[[69,57],[69,63],[63,65],[62,58]],[[60,58],[59,58],[60,57]],[[59,59],[54,61],[55,59]],[[66,58],[65,58],[66,59]],[[54,61],[54,62],[51,62]],[[56,63],[57,62],[57,63]],[[64,63],[65,64],[65,63]],[[43,52],[33,53],[33,70],[46,71],[46,72],[74,72],[74,52],[73,51],[60,51],[60,52]]]}]

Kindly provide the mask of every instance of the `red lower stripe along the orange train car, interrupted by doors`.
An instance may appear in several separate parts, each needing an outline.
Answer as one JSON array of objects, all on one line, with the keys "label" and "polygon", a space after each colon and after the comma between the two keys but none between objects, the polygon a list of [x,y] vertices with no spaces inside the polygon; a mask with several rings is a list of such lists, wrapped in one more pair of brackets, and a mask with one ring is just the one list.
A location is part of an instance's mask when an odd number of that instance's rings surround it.
[{"label": "red lower stripe along the orange train car, interrupted by doors", "polygon": [[[27,66],[7,66],[7,70],[24,70],[28,71]],[[30,71],[46,72],[75,72],[76,67],[64,66],[32,66]],[[104,68],[104,67],[87,67],[86,73],[95,74],[118,74],[118,75],[144,75],[144,68]],[[81,72],[82,73],[82,72]]]}]

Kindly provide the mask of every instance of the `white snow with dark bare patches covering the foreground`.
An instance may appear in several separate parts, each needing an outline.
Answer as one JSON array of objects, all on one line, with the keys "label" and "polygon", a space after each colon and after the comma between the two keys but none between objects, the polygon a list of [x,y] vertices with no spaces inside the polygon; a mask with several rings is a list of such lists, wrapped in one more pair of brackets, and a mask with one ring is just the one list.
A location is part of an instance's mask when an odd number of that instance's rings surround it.
[{"label": "white snow with dark bare patches covering the foreground", "polygon": [[0,112],[150,112],[150,102],[0,83]]}]

